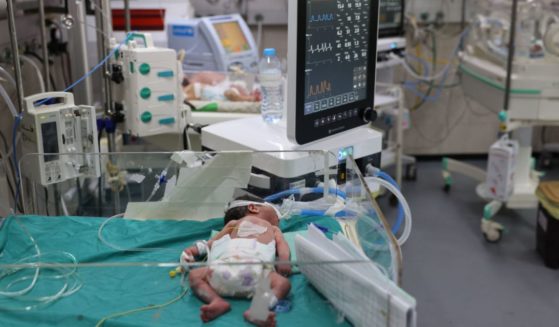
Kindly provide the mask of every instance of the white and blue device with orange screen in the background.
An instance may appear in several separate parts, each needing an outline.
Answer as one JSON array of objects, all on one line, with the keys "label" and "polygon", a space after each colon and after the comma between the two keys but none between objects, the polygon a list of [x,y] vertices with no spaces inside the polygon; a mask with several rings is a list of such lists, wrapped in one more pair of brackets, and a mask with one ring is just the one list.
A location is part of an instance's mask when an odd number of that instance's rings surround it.
[{"label": "white and blue device with orange screen in the background", "polygon": [[258,48],[238,14],[173,20],[167,36],[170,48],[185,51],[185,71],[257,70]]}]

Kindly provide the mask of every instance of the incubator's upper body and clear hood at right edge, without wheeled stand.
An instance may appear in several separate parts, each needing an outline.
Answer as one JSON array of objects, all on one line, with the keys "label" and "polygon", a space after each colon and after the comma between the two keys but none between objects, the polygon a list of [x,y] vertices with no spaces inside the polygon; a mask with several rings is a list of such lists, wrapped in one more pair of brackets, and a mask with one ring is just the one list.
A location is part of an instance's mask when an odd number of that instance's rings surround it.
[{"label": "incubator's upper body and clear hood at right edge, without wheeled stand", "polygon": [[[478,1],[460,70],[467,95],[493,110],[503,108],[512,1]],[[559,120],[559,6],[519,0],[510,92],[511,119]]]}]

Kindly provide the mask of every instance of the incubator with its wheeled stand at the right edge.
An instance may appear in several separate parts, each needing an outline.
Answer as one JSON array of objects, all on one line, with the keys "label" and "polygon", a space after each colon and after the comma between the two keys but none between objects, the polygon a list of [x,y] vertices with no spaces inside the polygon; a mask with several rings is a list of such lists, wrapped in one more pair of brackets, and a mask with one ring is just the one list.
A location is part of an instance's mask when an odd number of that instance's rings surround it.
[{"label": "incubator with its wheeled stand at the right edge", "polygon": [[[512,188],[512,192],[492,194],[486,182],[493,179],[491,167],[485,172],[444,159],[443,176],[447,191],[452,184],[451,172],[481,183],[477,193],[490,201],[484,209],[481,229],[488,241],[498,242],[503,226],[492,218],[503,205],[512,209],[537,207],[539,173],[532,159],[532,127],[559,124],[559,10],[552,1],[543,0],[478,1],[476,8],[459,69],[465,93],[488,108],[503,109],[499,114],[500,130],[512,133],[518,141],[518,150],[514,150],[517,154],[511,153],[502,166],[510,168],[512,157],[516,157],[514,178],[509,182],[512,185],[505,187]],[[511,14],[515,9],[516,14]],[[510,54],[514,55],[509,57]]]}]

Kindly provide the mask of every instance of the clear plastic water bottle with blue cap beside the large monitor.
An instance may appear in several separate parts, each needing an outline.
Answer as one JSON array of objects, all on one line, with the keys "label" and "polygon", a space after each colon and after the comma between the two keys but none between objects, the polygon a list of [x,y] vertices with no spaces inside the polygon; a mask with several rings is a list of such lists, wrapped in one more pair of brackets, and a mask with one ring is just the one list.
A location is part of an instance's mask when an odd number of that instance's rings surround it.
[{"label": "clear plastic water bottle with blue cap beside the large monitor", "polygon": [[281,62],[276,56],[276,49],[264,49],[264,57],[258,65],[258,71],[262,90],[262,119],[267,123],[276,124],[283,116],[284,105]]}]

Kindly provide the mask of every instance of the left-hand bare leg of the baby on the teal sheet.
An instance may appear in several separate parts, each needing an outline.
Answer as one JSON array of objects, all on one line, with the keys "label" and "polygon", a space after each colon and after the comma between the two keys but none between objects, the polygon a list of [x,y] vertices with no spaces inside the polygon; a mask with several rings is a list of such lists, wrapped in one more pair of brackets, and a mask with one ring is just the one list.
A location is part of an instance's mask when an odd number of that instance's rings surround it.
[{"label": "left-hand bare leg of the baby on the teal sheet", "polygon": [[229,303],[222,299],[208,283],[209,274],[209,268],[199,268],[191,270],[188,276],[194,294],[207,303],[200,308],[200,318],[203,322],[214,320],[231,308]]}]

